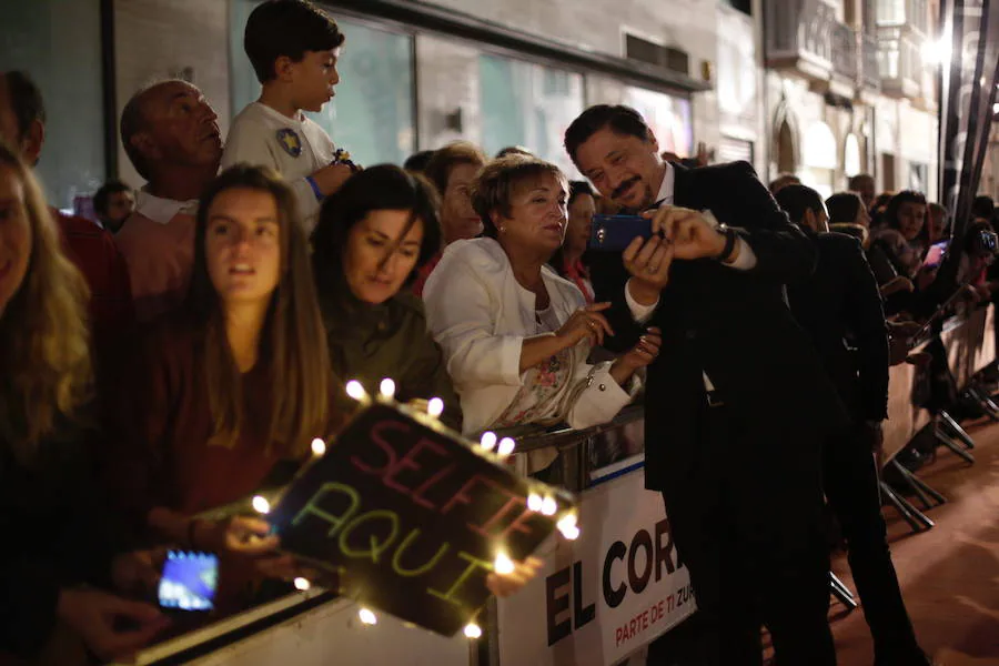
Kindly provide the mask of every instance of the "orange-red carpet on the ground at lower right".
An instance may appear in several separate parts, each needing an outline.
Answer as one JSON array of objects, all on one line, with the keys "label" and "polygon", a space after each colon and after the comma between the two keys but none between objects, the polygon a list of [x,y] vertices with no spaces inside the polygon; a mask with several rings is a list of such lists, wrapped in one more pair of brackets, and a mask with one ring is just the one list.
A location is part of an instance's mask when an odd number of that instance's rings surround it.
[{"label": "orange-red carpet on the ground at lower right", "polygon": [[[975,465],[939,448],[937,460],[917,473],[948,498],[925,512],[936,526],[912,534],[894,508],[885,508],[885,516],[922,648],[941,666],[999,666],[999,424],[966,427],[977,444]],[[852,589],[845,556],[833,569]],[[862,610],[847,614],[834,601],[830,618],[840,666],[870,666]]]}]

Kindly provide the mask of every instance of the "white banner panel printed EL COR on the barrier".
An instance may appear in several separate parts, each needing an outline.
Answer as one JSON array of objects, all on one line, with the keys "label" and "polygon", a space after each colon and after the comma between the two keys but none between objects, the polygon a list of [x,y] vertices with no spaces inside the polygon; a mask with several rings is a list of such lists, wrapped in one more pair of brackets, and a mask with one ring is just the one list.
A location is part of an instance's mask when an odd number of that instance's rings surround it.
[{"label": "white banner panel printed EL COR on the barrier", "polygon": [[546,542],[544,572],[500,601],[501,664],[609,666],[694,612],[663,496],[645,490],[644,472],[585,491],[579,538]]}]

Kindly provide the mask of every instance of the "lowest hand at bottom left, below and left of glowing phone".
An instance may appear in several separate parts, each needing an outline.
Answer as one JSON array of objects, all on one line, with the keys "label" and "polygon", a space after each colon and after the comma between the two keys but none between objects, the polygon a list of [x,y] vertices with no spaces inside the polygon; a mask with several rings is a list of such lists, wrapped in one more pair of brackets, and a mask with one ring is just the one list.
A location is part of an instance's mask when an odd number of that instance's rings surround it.
[{"label": "lowest hand at bottom left, below and left of glowing phone", "polygon": [[131,659],[170,624],[155,606],[89,588],[63,589],[57,615],[103,662]]}]

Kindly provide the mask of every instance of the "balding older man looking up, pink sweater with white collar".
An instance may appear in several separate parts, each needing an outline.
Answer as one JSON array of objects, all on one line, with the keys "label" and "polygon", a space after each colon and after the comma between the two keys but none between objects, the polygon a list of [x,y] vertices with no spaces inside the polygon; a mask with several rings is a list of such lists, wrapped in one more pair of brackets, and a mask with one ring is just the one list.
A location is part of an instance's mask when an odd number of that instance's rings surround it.
[{"label": "balding older man looking up, pink sweater with white collar", "polygon": [[222,159],[216,120],[201,91],[179,80],[140,90],[122,111],[121,142],[148,181],[114,236],[129,264],[140,322],[173,309],[186,293],[198,198]]}]

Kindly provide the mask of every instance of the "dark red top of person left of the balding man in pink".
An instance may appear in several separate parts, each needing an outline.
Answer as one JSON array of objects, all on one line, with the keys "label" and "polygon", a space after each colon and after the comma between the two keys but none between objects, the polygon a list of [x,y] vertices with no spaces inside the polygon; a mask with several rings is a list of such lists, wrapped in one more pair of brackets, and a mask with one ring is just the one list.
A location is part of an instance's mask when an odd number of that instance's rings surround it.
[{"label": "dark red top of person left of the balding man in pink", "polygon": [[67,255],[90,287],[90,316],[94,339],[124,330],[134,319],[129,269],[111,234],[85,218],[50,209]]}]

